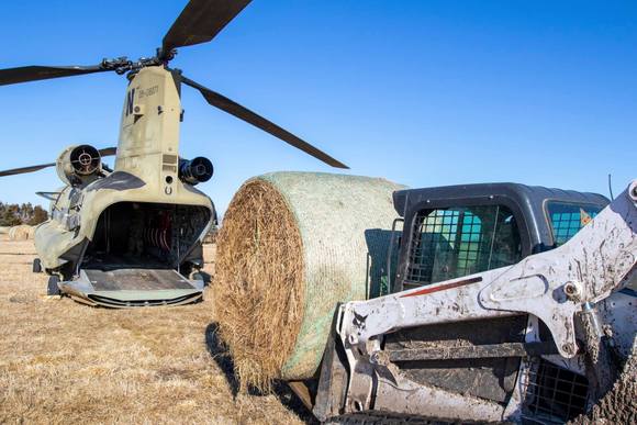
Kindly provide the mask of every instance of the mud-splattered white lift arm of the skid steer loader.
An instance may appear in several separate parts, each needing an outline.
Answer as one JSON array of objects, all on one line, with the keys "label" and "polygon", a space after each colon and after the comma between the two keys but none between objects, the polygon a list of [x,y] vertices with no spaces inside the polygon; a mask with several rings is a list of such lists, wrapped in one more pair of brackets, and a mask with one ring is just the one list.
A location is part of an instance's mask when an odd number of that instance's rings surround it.
[{"label": "mud-splattered white lift arm of the skid steer loader", "polygon": [[[500,350],[524,357],[524,353],[532,355],[534,349],[545,355],[552,349],[565,359],[573,358],[579,351],[575,314],[590,310],[634,278],[636,205],[637,180],[556,249],[528,256],[513,266],[342,305],[335,332],[349,369],[345,411],[384,406],[403,413],[417,412],[414,405],[418,399],[436,398],[440,400],[440,417],[448,417],[449,412],[457,418],[479,421],[506,417],[504,407],[496,403],[480,399],[468,403],[466,396],[424,385],[413,388],[411,401],[391,396],[383,400],[382,388],[398,385],[395,373],[391,372],[392,361],[427,359],[427,353],[417,349],[385,351],[383,336],[415,326],[527,314],[546,325],[555,346],[505,344]],[[377,385],[375,380],[384,380],[389,387]]]}]

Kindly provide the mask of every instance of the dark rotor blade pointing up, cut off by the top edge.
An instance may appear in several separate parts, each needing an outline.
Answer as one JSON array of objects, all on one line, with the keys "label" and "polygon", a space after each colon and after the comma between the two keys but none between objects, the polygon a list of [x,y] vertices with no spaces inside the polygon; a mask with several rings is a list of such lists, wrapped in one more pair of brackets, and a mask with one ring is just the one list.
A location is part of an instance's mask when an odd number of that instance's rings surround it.
[{"label": "dark rotor blade pointing up, cut off by the top edge", "polygon": [[164,36],[161,49],[208,43],[252,0],[190,0]]}]

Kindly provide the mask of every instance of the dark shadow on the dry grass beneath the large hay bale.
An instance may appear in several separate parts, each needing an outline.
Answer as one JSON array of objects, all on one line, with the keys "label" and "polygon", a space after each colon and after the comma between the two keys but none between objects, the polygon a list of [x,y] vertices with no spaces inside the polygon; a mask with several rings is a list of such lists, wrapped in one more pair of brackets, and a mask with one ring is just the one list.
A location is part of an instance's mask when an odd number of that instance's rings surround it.
[{"label": "dark shadow on the dry grass beneath the large hay bale", "polygon": [[[219,368],[223,371],[227,384],[230,385],[233,396],[236,396],[239,392],[239,381],[234,372],[234,364],[232,357],[227,351],[227,348],[223,345],[219,337],[219,324],[213,322],[205,328],[205,347],[212,359],[216,362]],[[247,393],[249,395],[269,395],[258,391],[257,389],[250,388]],[[281,404],[292,411],[299,418],[306,424],[317,424],[318,422],[312,415],[303,402],[290,390],[290,387],[283,381],[275,381],[272,383],[272,394],[275,394]]]}]

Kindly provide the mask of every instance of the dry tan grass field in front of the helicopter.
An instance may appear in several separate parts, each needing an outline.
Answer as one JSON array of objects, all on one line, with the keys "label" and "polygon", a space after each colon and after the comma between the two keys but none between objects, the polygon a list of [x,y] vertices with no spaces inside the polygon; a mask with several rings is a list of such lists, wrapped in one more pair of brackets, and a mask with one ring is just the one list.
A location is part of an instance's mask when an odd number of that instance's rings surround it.
[{"label": "dry tan grass field in front of the helicopter", "polygon": [[210,290],[199,304],[137,310],[47,299],[32,242],[0,237],[0,423],[311,421],[284,385],[237,393]]}]

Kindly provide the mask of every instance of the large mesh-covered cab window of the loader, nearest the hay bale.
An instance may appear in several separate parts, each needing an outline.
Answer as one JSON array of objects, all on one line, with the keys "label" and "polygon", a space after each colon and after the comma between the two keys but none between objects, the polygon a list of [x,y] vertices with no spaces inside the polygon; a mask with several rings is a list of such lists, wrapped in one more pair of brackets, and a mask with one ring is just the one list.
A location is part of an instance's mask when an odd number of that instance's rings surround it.
[{"label": "large mesh-covered cab window of the loader, nearest the hay bale", "polygon": [[519,261],[519,231],[504,205],[423,210],[416,215],[406,283],[423,286]]}]

